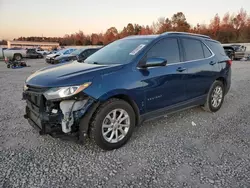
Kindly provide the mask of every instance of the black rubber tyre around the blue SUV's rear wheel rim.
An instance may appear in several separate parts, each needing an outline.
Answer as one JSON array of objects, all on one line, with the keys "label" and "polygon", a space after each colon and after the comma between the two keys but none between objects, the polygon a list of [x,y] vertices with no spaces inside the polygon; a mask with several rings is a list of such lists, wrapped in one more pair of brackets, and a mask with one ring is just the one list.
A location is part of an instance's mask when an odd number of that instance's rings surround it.
[{"label": "black rubber tyre around the blue SUV's rear wheel rim", "polygon": [[[219,105],[217,107],[214,107],[212,104],[212,98],[213,98],[213,93],[215,92],[215,89],[217,87],[220,87],[222,89],[222,98],[221,98],[221,102],[219,103]],[[217,112],[223,104],[224,97],[225,97],[225,87],[221,81],[216,80],[209,89],[206,103],[204,104],[203,109],[208,112]]]}]

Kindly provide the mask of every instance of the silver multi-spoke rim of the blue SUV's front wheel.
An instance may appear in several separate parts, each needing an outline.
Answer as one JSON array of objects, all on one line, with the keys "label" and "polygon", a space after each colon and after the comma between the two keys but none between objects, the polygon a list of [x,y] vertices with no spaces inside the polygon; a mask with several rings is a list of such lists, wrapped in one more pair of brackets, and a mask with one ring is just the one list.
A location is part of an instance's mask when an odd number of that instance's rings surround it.
[{"label": "silver multi-spoke rim of the blue SUV's front wheel", "polygon": [[112,110],[102,123],[102,136],[109,143],[121,141],[130,128],[130,117],[123,109]]}]

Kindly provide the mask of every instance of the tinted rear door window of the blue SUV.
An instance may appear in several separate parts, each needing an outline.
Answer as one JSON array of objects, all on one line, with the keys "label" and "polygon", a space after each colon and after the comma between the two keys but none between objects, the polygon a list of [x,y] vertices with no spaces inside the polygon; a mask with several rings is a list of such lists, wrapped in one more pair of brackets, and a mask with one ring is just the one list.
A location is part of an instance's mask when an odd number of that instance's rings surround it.
[{"label": "tinted rear door window of the blue SUV", "polygon": [[185,50],[185,61],[203,59],[202,43],[195,39],[182,39]]}]

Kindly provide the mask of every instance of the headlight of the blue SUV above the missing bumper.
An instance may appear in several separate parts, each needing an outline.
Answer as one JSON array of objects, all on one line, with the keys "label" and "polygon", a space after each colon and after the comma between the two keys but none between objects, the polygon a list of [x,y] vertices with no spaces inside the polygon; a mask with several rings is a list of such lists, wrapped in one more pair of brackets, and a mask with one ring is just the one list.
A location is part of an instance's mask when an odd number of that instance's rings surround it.
[{"label": "headlight of the blue SUV above the missing bumper", "polygon": [[75,95],[82,90],[89,87],[91,82],[87,82],[85,84],[79,85],[79,86],[68,86],[68,87],[58,87],[58,88],[52,88],[49,89],[44,93],[44,96],[47,100],[51,99],[59,99],[64,97],[70,97],[72,95]]}]

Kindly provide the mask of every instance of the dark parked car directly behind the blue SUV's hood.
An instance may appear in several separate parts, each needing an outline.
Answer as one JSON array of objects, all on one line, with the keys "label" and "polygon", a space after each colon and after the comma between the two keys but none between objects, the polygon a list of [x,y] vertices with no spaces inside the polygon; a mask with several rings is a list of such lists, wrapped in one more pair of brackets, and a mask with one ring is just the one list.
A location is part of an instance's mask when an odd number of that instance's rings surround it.
[{"label": "dark parked car directly behind the blue SUV's hood", "polygon": [[97,50],[99,50],[100,47],[86,47],[86,48],[80,48],[75,51],[73,51],[71,54],[68,55],[61,55],[54,59],[53,64],[57,63],[66,63],[73,60],[78,60],[79,62],[84,61],[87,57],[95,53]]}]

